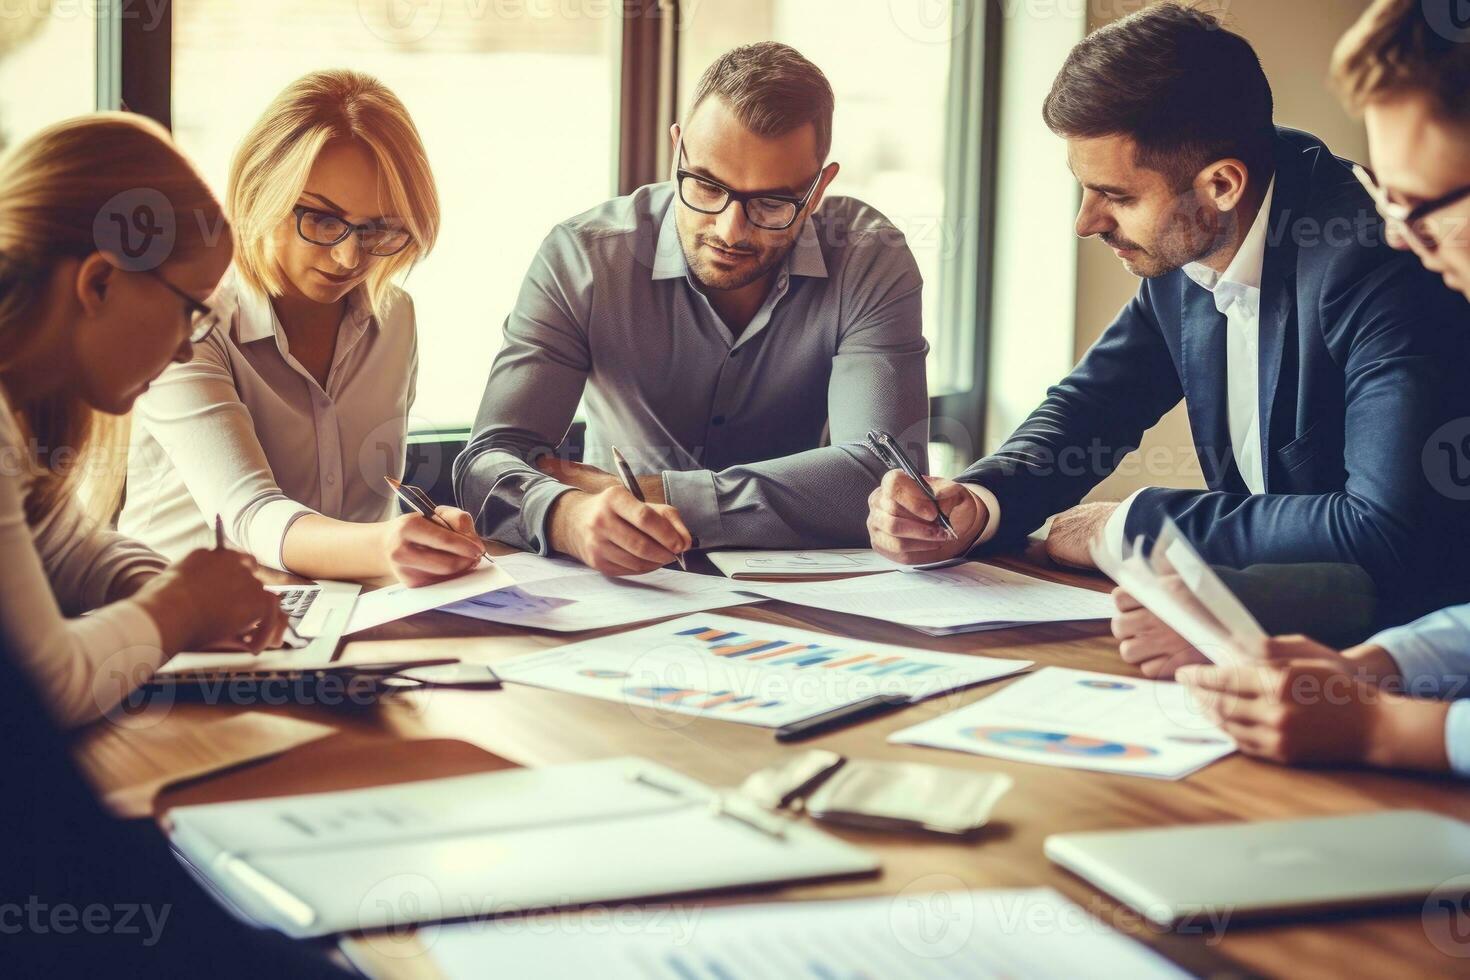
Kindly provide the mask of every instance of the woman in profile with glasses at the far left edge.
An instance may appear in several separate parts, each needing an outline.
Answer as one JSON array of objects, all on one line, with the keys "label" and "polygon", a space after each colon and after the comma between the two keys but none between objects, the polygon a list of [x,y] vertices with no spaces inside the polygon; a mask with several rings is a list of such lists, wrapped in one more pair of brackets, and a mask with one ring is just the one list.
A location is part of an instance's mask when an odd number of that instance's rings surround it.
[{"label": "woman in profile with glasses at the far left edge", "polygon": [[116,417],[209,335],[231,254],[219,203],[146,119],[72,119],[0,159],[0,636],[60,724],[181,649],[285,629],[247,555],[168,566],[104,526]]}]

